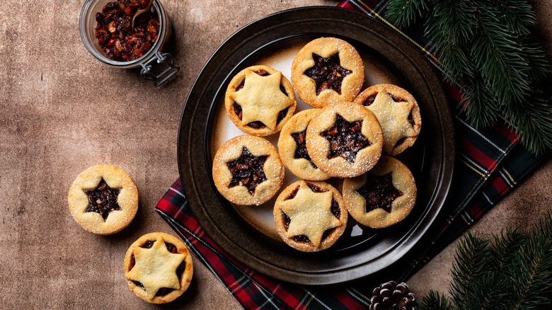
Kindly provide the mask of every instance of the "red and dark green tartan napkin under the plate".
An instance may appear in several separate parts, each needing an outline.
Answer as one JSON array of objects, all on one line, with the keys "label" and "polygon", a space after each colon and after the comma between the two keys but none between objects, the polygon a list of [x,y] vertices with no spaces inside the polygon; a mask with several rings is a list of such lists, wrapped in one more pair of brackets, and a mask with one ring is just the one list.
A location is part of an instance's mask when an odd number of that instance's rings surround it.
[{"label": "red and dark green tartan napkin under the plate", "polygon": [[[342,8],[362,11],[384,23],[386,0],[342,1]],[[393,27],[394,28],[394,27]],[[398,29],[396,29],[399,31]],[[427,54],[440,70],[432,47],[414,29],[405,35]],[[444,84],[450,97],[456,133],[454,180],[442,212],[420,241],[402,260],[402,270],[387,280],[403,281],[422,268],[432,257],[466,231],[497,202],[532,173],[548,156],[531,155],[504,122],[493,128],[476,130],[461,112],[458,88]],[[156,212],[187,243],[197,260],[204,263],[246,309],[362,309],[369,306],[373,285],[367,280],[326,287],[306,287],[267,277],[228,256],[197,223],[183,194],[180,179],[169,188],[156,206]]]}]

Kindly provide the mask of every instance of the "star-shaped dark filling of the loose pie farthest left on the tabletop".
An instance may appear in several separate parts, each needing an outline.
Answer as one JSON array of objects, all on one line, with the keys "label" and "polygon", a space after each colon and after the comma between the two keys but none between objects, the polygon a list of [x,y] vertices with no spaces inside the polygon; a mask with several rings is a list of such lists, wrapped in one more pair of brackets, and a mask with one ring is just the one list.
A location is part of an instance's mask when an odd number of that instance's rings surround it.
[{"label": "star-shaped dark filling of the loose pie farthest left on the tabletop", "polygon": [[86,207],[85,212],[97,212],[105,222],[111,211],[121,209],[117,203],[117,196],[120,191],[120,188],[110,188],[102,178],[96,188],[84,190],[84,193],[88,196],[88,207]]}]

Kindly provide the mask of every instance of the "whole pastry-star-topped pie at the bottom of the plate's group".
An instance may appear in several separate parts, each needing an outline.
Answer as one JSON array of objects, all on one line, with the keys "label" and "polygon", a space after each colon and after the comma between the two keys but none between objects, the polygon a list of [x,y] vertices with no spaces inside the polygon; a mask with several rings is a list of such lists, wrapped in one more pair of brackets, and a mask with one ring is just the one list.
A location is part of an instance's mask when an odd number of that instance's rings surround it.
[{"label": "whole pastry-star-topped pie at the bottom of the plate's group", "polygon": [[298,180],[278,196],[274,223],[287,245],[304,252],[332,246],[345,231],[347,209],[339,191],[321,181]]}]

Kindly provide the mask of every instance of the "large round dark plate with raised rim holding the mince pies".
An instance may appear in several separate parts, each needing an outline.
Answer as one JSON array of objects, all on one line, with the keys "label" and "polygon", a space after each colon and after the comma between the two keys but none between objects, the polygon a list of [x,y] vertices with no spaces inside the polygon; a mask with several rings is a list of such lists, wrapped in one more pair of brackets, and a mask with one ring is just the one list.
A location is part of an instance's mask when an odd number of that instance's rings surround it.
[{"label": "large round dark plate with raised rim holding the mince pies", "polygon": [[[422,134],[401,154],[413,171],[418,199],[413,212],[387,229],[360,229],[354,221],[326,251],[301,253],[274,240],[219,195],[211,160],[220,139],[224,91],[234,74],[297,42],[343,38],[373,68],[406,88],[422,111]],[[367,55],[367,56],[364,56]],[[178,167],[183,189],[209,236],[241,263],[280,280],[326,285],[373,275],[404,256],[425,234],[447,196],[454,166],[454,134],[447,98],[422,52],[394,30],[361,13],[306,7],[272,14],[238,30],[214,52],[192,86],[180,120]],[[289,76],[288,76],[289,77]],[[374,82],[378,77],[372,77]],[[350,218],[351,219],[351,218]]]}]

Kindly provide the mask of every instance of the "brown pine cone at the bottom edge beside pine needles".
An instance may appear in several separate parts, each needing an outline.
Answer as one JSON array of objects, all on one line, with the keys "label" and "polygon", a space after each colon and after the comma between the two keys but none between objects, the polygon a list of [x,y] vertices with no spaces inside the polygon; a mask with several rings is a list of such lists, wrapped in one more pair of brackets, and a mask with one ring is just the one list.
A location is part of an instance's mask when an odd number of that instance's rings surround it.
[{"label": "brown pine cone at the bottom edge beside pine needles", "polygon": [[372,292],[370,310],[416,310],[416,297],[405,282],[386,282]]}]

